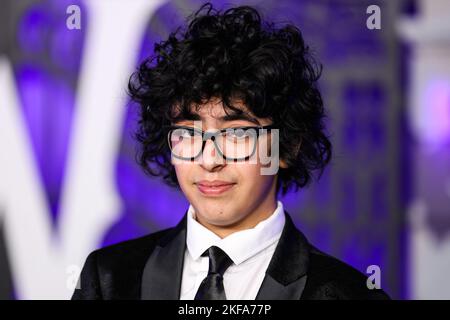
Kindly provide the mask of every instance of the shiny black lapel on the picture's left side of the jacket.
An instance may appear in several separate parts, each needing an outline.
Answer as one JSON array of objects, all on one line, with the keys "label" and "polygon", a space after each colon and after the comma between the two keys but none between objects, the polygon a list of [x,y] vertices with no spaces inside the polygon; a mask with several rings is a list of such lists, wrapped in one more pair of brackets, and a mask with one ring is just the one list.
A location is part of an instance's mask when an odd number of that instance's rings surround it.
[{"label": "shiny black lapel on the picture's left side of the jacket", "polygon": [[187,213],[159,241],[147,260],[142,275],[142,300],[179,299],[186,250],[186,218]]}]

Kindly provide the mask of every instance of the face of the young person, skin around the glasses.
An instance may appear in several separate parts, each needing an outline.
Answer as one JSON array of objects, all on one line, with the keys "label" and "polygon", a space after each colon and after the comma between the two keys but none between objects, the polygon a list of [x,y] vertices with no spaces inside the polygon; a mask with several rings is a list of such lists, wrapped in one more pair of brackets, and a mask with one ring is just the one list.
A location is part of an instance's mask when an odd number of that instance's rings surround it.
[{"label": "face of the young person, skin around the glasses", "polygon": [[[235,106],[246,110],[242,104],[235,103]],[[217,99],[202,105],[195,113],[201,122],[183,120],[173,125],[198,128],[200,123],[202,126],[200,129],[207,132],[223,128],[271,124],[270,119],[254,116],[252,116],[254,120],[230,120],[229,117],[225,117],[223,105]],[[259,136],[256,152],[248,161],[224,160],[211,139],[206,141],[203,153],[196,161],[180,161],[172,157],[178,182],[195,209],[196,219],[221,237],[254,227],[276,209],[277,175],[261,174],[262,165],[258,151],[262,143],[270,145],[270,131]],[[252,159],[253,161],[250,161]],[[284,163],[280,161],[280,166],[283,165]],[[208,183],[212,181],[219,181],[219,184],[225,185],[212,187]]]}]

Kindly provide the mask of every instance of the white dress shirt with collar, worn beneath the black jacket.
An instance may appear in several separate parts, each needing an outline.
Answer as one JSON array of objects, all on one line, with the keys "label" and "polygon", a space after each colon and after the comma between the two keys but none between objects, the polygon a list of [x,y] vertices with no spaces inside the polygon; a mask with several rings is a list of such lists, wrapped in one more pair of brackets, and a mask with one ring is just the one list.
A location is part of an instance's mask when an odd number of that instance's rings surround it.
[{"label": "white dress shirt with collar, worn beneath the black jacket", "polygon": [[234,232],[222,239],[195,220],[195,210],[190,205],[180,300],[195,298],[209,268],[209,258],[201,255],[211,246],[221,248],[233,260],[233,264],[223,275],[227,299],[254,300],[280,239],[285,220],[283,204],[277,201],[273,214],[254,228]]}]

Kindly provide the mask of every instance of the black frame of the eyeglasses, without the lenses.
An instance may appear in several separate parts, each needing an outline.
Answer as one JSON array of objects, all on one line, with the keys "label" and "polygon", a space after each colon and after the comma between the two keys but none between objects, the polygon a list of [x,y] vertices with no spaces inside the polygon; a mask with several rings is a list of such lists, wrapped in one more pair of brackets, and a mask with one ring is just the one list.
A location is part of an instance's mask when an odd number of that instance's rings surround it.
[{"label": "black frame of the eyeglasses, without the lenses", "polygon": [[[206,131],[200,130],[198,128],[193,128],[193,127],[189,127],[189,126],[169,125],[169,126],[164,126],[164,127],[168,130],[168,132],[167,132],[167,143],[169,145],[170,152],[177,159],[194,161],[196,158],[198,158],[203,153],[203,150],[205,149],[206,141],[208,141],[208,139],[211,138],[212,142],[214,143],[214,147],[216,148],[217,152],[222,156],[222,158],[225,159],[225,160],[228,160],[228,161],[231,160],[231,161],[235,161],[235,162],[236,161],[246,161],[246,160],[250,159],[255,154],[256,145],[257,145],[257,142],[258,142],[258,139],[259,139],[259,135],[261,133],[260,132],[261,129],[265,129],[265,130],[268,130],[268,131],[270,131],[272,129],[277,129],[273,125],[267,125],[267,126],[242,126],[242,127],[223,128],[223,129],[220,129],[220,130],[217,130],[217,131],[214,131],[214,132],[206,132]],[[180,157],[180,156],[177,156],[176,154],[174,154],[172,152],[172,144],[170,142],[171,141],[170,136],[172,134],[172,131],[175,130],[175,129],[186,129],[186,130],[189,130],[189,131],[194,131],[194,132],[200,133],[202,135],[202,140],[203,140],[202,141],[203,142],[202,143],[202,148],[201,148],[200,152],[196,156],[194,156],[194,157]],[[220,150],[219,146],[217,145],[217,142],[215,141],[216,140],[216,136],[221,134],[221,133],[227,132],[229,130],[239,130],[239,129],[242,129],[242,130],[253,129],[253,130],[256,131],[256,143],[255,143],[255,145],[253,147],[253,151],[247,157],[242,157],[242,158],[226,157],[222,153],[222,150]]]}]

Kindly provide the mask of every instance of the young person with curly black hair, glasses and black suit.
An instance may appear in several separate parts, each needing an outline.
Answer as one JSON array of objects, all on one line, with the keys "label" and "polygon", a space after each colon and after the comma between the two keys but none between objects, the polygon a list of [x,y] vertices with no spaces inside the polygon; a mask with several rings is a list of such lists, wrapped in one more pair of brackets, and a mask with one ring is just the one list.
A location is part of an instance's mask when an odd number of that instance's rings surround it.
[{"label": "young person with curly black hair, glasses and black suit", "polygon": [[155,54],[129,84],[140,164],[190,206],[174,228],[92,252],[73,299],[388,298],[310,245],[278,200],[331,156],[300,31],[206,4]]}]

